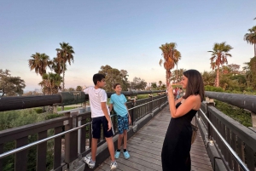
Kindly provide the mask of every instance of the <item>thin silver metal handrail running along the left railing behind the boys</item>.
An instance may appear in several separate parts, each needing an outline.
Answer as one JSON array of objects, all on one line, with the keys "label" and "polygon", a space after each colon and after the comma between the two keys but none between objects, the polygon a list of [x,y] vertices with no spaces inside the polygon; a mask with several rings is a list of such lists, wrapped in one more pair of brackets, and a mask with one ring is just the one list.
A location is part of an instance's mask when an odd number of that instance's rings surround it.
[{"label": "thin silver metal handrail running along the left railing behind the boys", "polygon": [[[166,96],[165,96],[165,97],[166,97]],[[160,100],[160,99],[165,98],[165,97],[161,97],[161,98],[159,98],[159,99],[157,99],[157,100]],[[144,104],[142,104],[142,105],[147,105],[148,103],[151,103],[151,102],[153,102],[153,101],[155,101],[155,100],[152,100],[152,101],[150,101],[150,102],[144,103]],[[137,105],[137,106],[132,107],[132,108],[130,108],[130,109],[128,109],[128,110],[130,111],[130,110],[135,109],[135,108],[137,108],[137,107],[139,107],[139,106],[142,106],[142,105]],[[113,116],[115,116],[115,115],[116,115],[116,114],[110,115],[110,117],[113,117]],[[72,128],[72,129],[69,129],[69,130],[67,130],[67,131],[64,131],[64,132],[62,132],[62,133],[60,133],[60,134],[55,134],[55,135],[50,136],[50,137],[48,137],[48,138],[45,138],[45,139],[42,139],[42,140],[37,140],[37,141],[32,142],[32,143],[30,143],[30,144],[28,144],[28,145],[20,146],[19,148],[16,148],[16,149],[14,149],[14,150],[4,152],[4,153],[0,154],[0,159],[3,158],[3,157],[7,157],[7,156],[9,156],[9,155],[11,155],[11,154],[15,154],[16,152],[26,150],[26,149],[28,149],[28,148],[34,146],[34,145],[38,145],[38,144],[44,143],[44,142],[47,141],[47,140],[52,140],[52,139],[54,139],[54,138],[56,138],[56,137],[59,137],[59,136],[61,136],[61,135],[63,135],[63,134],[67,134],[67,133],[73,132],[73,131],[75,131],[75,130],[78,130],[78,129],[80,129],[80,128],[84,128],[85,126],[90,125],[90,124],[91,124],[91,122],[90,122],[90,123],[85,123],[84,125],[81,125],[81,126],[79,126],[79,127],[77,127],[77,128]]]}]

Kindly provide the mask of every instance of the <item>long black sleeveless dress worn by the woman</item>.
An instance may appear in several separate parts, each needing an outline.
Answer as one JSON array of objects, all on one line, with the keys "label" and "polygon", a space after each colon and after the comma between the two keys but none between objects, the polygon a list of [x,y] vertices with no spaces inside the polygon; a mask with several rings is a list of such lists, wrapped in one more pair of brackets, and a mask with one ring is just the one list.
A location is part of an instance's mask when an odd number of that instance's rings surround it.
[{"label": "long black sleeveless dress worn by the woman", "polygon": [[[176,108],[181,105],[177,103]],[[197,111],[191,110],[183,117],[172,118],[162,148],[163,171],[190,171],[191,121]]]}]

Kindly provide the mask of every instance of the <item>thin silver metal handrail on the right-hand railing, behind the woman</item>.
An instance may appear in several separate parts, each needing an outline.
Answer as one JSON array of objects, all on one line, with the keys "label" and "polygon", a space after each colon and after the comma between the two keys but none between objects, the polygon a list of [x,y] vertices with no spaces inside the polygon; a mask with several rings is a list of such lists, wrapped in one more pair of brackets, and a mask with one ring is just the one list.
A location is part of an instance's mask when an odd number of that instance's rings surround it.
[{"label": "thin silver metal handrail on the right-hand railing, behind the woman", "polygon": [[236,151],[234,151],[232,149],[232,147],[228,144],[228,142],[226,140],[224,140],[224,138],[222,137],[222,135],[218,132],[217,128],[214,127],[214,125],[211,123],[211,121],[208,119],[208,117],[206,116],[206,114],[204,113],[204,111],[202,111],[200,109],[201,113],[203,114],[203,116],[207,119],[207,122],[211,125],[211,127],[213,128],[213,130],[218,134],[218,137],[220,138],[220,140],[222,140],[224,142],[224,145],[226,145],[226,147],[228,148],[228,150],[231,152],[232,156],[235,157],[236,159],[236,162],[238,162],[238,164],[240,165],[240,167],[243,169],[243,170],[246,170],[246,171],[250,171],[247,166],[241,161],[241,158],[238,157],[236,155]]}]

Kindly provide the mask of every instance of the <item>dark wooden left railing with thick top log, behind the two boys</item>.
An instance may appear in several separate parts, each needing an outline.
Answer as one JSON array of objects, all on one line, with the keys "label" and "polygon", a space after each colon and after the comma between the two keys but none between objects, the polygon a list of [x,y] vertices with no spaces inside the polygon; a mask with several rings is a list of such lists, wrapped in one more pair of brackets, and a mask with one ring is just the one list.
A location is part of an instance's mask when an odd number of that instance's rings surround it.
[{"label": "dark wooden left railing with thick top log, behind the two boys", "polygon": [[[125,96],[131,96],[127,106],[133,124],[148,113],[160,109],[162,105],[166,105],[167,97],[162,92],[122,92]],[[154,93],[159,95],[143,100],[132,99],[132,96],[134,97],[137,94]],[[113,93],[108,93],[108,97],[111,94]],[[42,105],[70,105],[85,102],[86,100],[88,100],[88,95],[86,96],[83,92],[50,96],[6,97],[0,100],[0,111],[18,110]],[[64,117],[0,131],[0,170],[3,170],[3,164],[5,167],[8,164],[9,170],[15,171],[30,169],[45,171],[45,166],[51,164],[52,168],[50,169],[54,171],[77,170],[82,165],[80,163],[81,158],[90,153],[91,114],[87,108],[63,111],[63,113],[65,114]],[[113,129],[117,132],[117,118],[115,115],[112,117],[112,122]],[[98,141],[98,146],[104,143],[105,140],[102,135]],[[9,150],[9,146],[12,145],[14,149]],[[31,161],[28,162],[30,155],[34,156],[34,165],[31,165]],[[7,162],[10,158],[13,158],[13,163]]]}]

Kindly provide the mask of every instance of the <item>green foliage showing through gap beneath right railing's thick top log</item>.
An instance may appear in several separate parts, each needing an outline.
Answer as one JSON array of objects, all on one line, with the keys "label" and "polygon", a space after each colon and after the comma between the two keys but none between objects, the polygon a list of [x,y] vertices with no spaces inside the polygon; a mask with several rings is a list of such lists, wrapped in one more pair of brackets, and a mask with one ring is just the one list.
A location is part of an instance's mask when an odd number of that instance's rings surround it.
[{"label": "green foliage showing through gap beneath right railing's thick top log", "polygon": [[226,104],[222,101],[215,100],[215,103],[215,106],[219,111],[222,111],[224,114],[233,118],[245,127],[252,127],[252,118],[250,112],[238,108],[234,105]]}]

